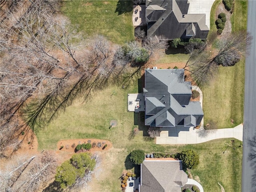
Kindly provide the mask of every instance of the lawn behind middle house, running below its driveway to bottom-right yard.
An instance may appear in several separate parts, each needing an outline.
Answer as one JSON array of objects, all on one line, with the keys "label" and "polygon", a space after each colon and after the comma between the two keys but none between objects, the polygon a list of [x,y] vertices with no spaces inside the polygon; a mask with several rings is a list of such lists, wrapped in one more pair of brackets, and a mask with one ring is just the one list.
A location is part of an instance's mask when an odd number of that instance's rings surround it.
[{"label": "lawn behind middle house, running below its driveway to bottom-right yard", "polygon": [[[238,148],[238,140],[233,144],[237,147],[236,150],[228,148],[223,154],[228,144],[230,145],[230,138],[195,145],[156,145],[154,140],[146,141],[142,131],[134,138],[129,137],[132,129],[138,127],[138,116],[127,112],[127,94],[138,92],[137,82],[138,79],[134,78],[126,89],[110,85],[92,94],[92,98],[87,102],[83,102],[82,95],[78,96],[78,99],[65,111],[61,111],[48,126],[35,129],[39,150],[58,150],[57,142],[62,139],[109,139],[113,148],[106,151],[101,168],[102,176],[94,178],[92,185],[94,191],[118,192],[121,191],[119,177],[122,171],[134,171],[127,158],[132,150],[176,153],[191,148],[200,156],[200,164],[192,170],[192,175],[194,178],[199,177],[205,192],[219,191],[218,182],[224,186],[226,192],[239,191],[242,148]],[[118,125],[109,129],[112,119],[117,120]]]}]

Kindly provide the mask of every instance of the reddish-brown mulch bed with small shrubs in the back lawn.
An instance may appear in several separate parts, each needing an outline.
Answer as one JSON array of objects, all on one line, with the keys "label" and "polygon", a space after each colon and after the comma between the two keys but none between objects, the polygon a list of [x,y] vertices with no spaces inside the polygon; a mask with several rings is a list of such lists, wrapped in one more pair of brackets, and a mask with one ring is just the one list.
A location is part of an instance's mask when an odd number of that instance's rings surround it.
[{"label": "reddish-brown mulch bed with small shrubs in the back lawn", "polygon": [[[89,141],[89,142],[88,142]],[[92,147],[89,152],[93,153],[95,151],[106,151],[109,150],[110,148],[112,148],[112,143],[108,140],[100,140],[100,139],[69,139],[69,140],[60,140],[57,144],[57,148],[60,149],[61,146],[63,146],[63,148],[59,151],[61,152],[68,152],[68,153],[73,153],[75,152],[75,148],[78,144],[83,144],[83,143],[90,143],[91,145],[93,143],[98,144],[98,142],[101,143],[101,147]],[[107,147],[104,148],[104,145],[107,144]],[[104,149],[103,149],[104,148]]]}]

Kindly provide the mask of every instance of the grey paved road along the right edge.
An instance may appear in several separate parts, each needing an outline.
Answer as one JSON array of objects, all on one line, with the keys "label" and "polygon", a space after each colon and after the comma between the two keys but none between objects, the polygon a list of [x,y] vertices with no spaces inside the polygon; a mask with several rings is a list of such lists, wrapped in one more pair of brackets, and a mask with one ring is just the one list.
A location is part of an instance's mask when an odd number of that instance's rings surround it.
[{"label": "grey paved road along the right edge", "polygon": [[[245,62],[244,132],[242,192],[256,192],[256,1],[248,1],[247,30],[251,33],[251,53]],[[255,140],[254,140],[255,139]],[[254,141],[254,142],[252,142]],[[252,144],[254,143],[254,146]]]}]

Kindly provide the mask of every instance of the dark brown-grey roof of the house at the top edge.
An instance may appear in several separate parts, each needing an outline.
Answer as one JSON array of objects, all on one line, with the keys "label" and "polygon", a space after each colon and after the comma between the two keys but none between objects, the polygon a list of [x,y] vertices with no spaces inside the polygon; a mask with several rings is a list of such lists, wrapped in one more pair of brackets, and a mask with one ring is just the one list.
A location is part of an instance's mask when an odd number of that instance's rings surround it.
[{"label": "dark brown-grey roof of the house at the top edge", "polygon": [[187,14],[188,8],[188,0],[146,0],[148,38],[206,39],[209,31],[206,14]]}]

